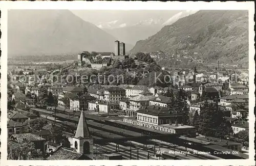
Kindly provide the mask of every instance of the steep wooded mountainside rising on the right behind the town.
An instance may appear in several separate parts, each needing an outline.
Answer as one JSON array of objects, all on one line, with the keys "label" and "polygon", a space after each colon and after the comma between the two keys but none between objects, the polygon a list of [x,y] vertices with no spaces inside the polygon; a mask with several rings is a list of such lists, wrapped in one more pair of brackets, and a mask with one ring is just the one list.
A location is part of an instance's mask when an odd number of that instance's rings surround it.
[{"label": "steep wooded mountainside rising on the right behind the town", "polygon": [[248,65],[248,12],[202,10],[164,26],[136,43],[139,51],[187,51],[207,62]]}]

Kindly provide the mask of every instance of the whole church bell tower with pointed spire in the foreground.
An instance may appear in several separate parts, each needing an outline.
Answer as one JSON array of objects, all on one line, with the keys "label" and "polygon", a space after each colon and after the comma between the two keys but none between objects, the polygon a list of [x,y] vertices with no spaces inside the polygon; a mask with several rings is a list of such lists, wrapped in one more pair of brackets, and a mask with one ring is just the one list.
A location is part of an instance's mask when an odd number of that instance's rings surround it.
[{"label": "whole church bell tower with pointed spire in the foreground", "polygon": [[93,159],[93,137],[90,135],[83,110],[72,142],[72,148],[75,148],[78,153],[86,154]]}]

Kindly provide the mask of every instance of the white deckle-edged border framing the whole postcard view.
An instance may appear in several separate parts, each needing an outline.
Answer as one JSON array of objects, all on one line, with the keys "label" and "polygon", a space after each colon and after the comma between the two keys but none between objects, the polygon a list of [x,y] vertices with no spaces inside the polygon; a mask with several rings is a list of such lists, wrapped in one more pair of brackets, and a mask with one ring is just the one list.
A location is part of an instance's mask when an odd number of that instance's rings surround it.
[{"label": "white deckle-edged border framing the whole postcard view", "polygon": [[[1,1],[1,73],[7,73],[7,10],[9,9],[69,9],[69,10],[248,10],[249,18],[249,108],[255,106],[255,62],[254,50],[254,3],[253,2],[28,2]],[[1,77],[1,126],[7,126],[7,74]],[[254,131],[255,116],[249,111],[249,159],[221,159],[221,160],[87,160],[86,165],[254,165]],[[7,160],[7,128],[1,132],[1,164],[2,165],[84,165],[79,160]]]}]

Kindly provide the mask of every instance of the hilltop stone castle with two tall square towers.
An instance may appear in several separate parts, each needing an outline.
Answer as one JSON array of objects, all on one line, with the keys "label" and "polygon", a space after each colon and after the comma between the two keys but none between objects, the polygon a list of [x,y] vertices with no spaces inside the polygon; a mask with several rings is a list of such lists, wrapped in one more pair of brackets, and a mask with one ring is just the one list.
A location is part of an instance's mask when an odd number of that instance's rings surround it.
[{"label": "hilltop stone castle with two tall square towers", "polygon": [[101,69],[104,66],[110,66],[112,60],[124,60],[128,58],[125,56],[125,43],[115,41],[115,53],[113,52],[97,52],[96,56],[89,59],[89,55],[78,54],[78,66],[82,66],[82,63],[88,64],[93,69]]}]

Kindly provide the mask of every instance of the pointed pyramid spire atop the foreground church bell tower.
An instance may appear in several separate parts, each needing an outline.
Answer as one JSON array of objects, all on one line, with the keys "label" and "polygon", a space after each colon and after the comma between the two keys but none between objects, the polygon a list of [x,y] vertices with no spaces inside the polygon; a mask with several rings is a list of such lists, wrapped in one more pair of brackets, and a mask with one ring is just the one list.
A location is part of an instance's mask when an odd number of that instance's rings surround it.
[{"label": "pointed pyramid spire atop the foreground church bell tower", "polygon": [[90,132],[86,123],[86,117],[84,116],[84,112],[82,109],[81,115],[80,115],[80,119],[77,125],[77,129],[76,129],[76,134],[75,134],[76,138],[79,137],[90,137]]}]

